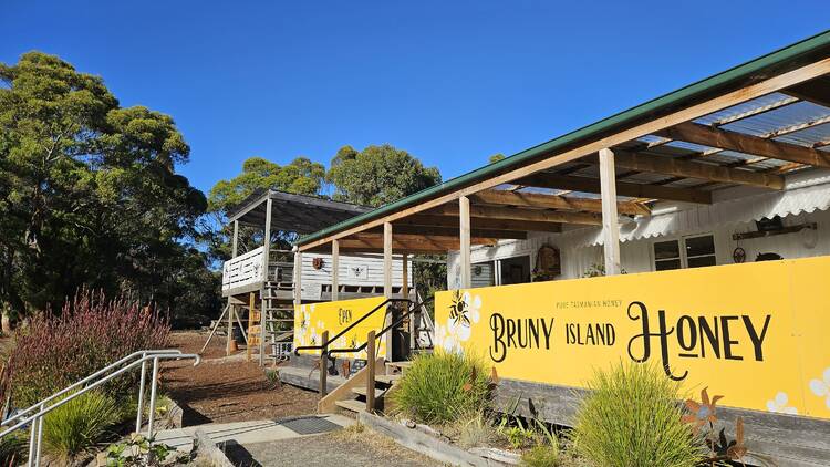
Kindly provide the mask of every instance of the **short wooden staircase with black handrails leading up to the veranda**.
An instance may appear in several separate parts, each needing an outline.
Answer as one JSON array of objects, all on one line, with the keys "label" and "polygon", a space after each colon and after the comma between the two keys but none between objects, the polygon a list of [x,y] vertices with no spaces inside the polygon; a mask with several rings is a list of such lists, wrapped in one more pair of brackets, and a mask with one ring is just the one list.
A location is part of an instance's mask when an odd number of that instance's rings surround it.
[{"label": "short wooden staircase with black handrails leading up to the veranda", "polygon": [[383,359],[377,359],[376,366],[381,373],[374,375],[373,385],[367,384],[369,367],[364,367],[343,385],[323,397],[318,404],[318,412],[321,414],[336,412],[338,409],[351,414],[365,412],[369,407],[366,395],[370,386],[374,386],[372,411],[388,409],[390,404],[386,403],[386,399],[395,390],[406,369],[412,366],[412,362],[385,362]]}]

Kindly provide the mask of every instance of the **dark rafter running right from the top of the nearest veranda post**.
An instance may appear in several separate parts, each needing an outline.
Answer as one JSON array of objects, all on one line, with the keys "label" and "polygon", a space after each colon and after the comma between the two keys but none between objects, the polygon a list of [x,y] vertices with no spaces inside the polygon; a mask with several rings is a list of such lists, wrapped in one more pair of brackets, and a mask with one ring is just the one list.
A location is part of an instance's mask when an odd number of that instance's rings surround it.
[{"label": "dark rafter running right from the top of the nearest veranda post", "polygon": [[769,189],[784,189],[784,177],[780,175],[761,174],[714,164],[693,163],[672,156],[655,156],[614,148],[614,160],[616,167],[637,172],[673,175],[683,178],[699,178],[702,180],[725,184],[749,185]]}]

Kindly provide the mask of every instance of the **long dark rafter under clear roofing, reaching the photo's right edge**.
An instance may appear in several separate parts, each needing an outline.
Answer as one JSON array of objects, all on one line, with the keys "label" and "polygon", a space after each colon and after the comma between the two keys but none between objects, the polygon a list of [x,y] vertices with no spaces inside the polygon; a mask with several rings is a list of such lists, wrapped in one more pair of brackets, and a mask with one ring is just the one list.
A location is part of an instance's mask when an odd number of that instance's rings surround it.
[{"label": "long dark rafter under clear roofing, reaching the photo's right edge", "polygon": [[788,160],[816,167],[830,167],[830,154],[797,144],[764,139],[697,123],[682,123],[657,132],[661,136],[744,154]]}]

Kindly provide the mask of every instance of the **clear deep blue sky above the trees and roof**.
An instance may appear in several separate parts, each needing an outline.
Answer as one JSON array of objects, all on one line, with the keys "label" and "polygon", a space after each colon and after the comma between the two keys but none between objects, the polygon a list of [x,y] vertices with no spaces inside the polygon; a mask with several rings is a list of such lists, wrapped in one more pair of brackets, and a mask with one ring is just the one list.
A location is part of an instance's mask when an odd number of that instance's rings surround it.
[{"label": "clear deep blue sky above the trees and roof", "polygon": [[[681,4],[682,3],[682,4]],[[671,7],[670,7],[671,6]],[[821,32],[830,2],[3,0],[29,50],[172,115],[207,191],[391,143],[445,179]]]}]

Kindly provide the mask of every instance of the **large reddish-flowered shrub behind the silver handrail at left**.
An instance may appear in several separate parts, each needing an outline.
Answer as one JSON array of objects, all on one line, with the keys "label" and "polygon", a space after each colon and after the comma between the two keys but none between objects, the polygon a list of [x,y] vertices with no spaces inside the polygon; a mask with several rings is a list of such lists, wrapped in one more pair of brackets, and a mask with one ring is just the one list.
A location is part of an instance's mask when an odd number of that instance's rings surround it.
[{"label": "large reddish-flowered shrub behind the silver handrail at left", "polygon": [[[40,313],[15,335],[8,362],[14,404],[34,404],[135,351],[162,349],[169,331],[167,321],[148,307],[83,290],[64,304],[60,316]],[[138,373],[128,372],[104,390],[121,398],[137,381]]]}]

